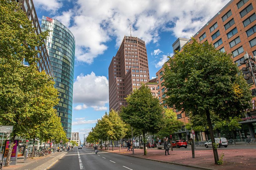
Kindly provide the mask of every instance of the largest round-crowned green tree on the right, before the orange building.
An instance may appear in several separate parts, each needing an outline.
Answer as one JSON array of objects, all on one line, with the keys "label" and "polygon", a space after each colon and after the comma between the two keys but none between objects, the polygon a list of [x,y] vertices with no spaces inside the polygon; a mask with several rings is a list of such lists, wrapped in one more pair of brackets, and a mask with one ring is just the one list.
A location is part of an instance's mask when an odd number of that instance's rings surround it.
[{"label": "largest round-crowned green tree on the right, before the orange building", "polygon": [[[166,103],[176,109],[186,109],[207,120],[213,136],[210,113],[220,119],[239,117],[251,108],[250,86],[243,78],[231,54],[220,52],[212,44],[195,39],[165,65]],[[213,147],[217,164],[218,152]]]}]

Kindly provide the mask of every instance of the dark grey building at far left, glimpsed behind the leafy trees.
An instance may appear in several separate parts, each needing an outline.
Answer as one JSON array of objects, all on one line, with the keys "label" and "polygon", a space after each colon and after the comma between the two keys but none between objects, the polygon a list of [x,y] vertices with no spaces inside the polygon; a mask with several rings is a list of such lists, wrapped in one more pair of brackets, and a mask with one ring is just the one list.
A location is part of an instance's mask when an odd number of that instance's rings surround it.
[{"label": "dark grey building at far left, glimpsed behind the leafy trees", "polygon": [[[38,18],[37,18],[37,15],[36,15],[36,11],[35,11],[33,1],[32,0],[16,0],[16,1],[21,4],[21,9],[26,13],[29,20],[32,21],[33,27],[36,28],[35,33],[40,34],[41,33],[41,27],[40,27],[40,24],[38,22]],[[41,51],[41,53],[38,53],[37,56],[36,56],[37,58],[39,58],[39,60],[37,61],[38,70],[40,72],[42,70],[45,70],[46,74],[48,74],[50,76],[53,76],[52,66],[51,66],[51,62],[50,62],[50,58],[48,56],[46,46],[45,45],[37,46],[35,49]],[[26,62],[25,59],[23,60],[22,64],[25,65],[25,66],[29,65],[29,63]]]}]

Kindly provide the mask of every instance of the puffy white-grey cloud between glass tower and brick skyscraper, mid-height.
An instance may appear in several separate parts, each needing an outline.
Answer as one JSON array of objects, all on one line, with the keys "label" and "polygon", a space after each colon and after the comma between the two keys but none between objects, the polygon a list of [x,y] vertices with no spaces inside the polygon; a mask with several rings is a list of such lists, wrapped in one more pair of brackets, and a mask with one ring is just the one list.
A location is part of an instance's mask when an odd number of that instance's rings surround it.
[{"label": "puffy white-grey cloud between glass tower and brick skyscraper, mid-height", "polygon": [[[108,80],[105,76],[96,76],[94,72],[81,74],[76,77],[73,89],[73,103],[82,103],[95,110],[107,110]],[[80,108],[83,107],[80,105],[77,109]]]}]

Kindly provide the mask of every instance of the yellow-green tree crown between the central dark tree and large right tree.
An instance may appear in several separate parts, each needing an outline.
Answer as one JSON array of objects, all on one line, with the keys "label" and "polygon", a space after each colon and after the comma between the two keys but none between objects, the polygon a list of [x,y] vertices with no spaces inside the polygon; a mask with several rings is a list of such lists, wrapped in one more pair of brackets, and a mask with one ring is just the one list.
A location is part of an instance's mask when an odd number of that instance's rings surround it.
[{"label": "yellow-green tree crown between the central dark tree and large right tree", "polygon": [[157,133],[160,138],[169,136],[177,132],[183,125],[183,122],[177,119],[176,113],[172,109],[165,109],[162,129]]}]

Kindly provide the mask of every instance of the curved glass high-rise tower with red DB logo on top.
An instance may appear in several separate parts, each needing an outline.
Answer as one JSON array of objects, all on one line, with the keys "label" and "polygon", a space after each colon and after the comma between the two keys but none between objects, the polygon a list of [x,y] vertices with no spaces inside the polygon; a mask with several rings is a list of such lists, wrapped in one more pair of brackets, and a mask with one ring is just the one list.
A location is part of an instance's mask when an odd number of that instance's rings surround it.
[{"label": "curved glass high-rise tower with red DB logo on top", "polygon": [[55,86],[60,92],[60,102],[55,108],[60,116],[67,138],[71,138],[75,37],[60,21],[43,16],[42,30],[50,30],[46,40]]}]

